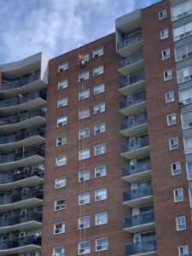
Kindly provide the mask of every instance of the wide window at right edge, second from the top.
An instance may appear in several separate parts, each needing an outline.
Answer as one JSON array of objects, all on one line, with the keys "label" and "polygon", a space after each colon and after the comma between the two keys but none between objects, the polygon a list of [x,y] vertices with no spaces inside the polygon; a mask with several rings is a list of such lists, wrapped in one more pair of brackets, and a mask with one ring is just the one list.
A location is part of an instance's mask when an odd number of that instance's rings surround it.
[{"label": "wide window at right edge, second from the top", "polygon": [[173,40],[177,41],[186,37],[189,37],[192,34],[192,22],[184,24],[183,26],[178,26],[173,29]]}]

